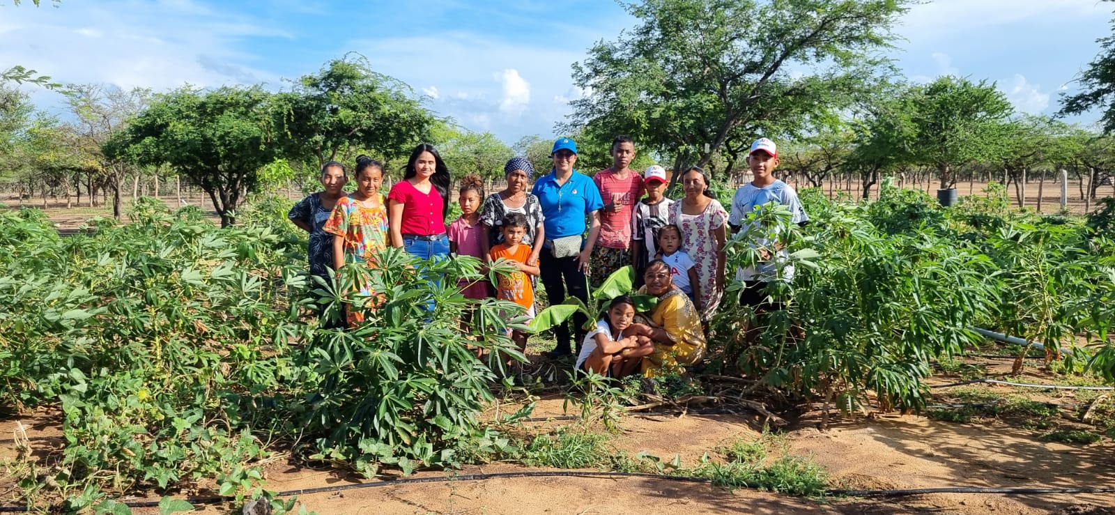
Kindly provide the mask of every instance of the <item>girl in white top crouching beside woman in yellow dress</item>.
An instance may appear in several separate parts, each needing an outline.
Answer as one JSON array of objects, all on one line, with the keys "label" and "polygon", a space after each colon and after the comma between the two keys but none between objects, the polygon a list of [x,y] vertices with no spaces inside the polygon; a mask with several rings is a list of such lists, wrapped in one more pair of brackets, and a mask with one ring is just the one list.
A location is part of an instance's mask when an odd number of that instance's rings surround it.
[{"label": "girl in white top crouching beside woman in yellow dress", "polygon": [[643,336],[623,336],[633,320],[634,301],[627,295],[613,299],[605,319],[584,336],[576,369],[612,378],[642,371],[642,358],[655,351],[655,343]]}]

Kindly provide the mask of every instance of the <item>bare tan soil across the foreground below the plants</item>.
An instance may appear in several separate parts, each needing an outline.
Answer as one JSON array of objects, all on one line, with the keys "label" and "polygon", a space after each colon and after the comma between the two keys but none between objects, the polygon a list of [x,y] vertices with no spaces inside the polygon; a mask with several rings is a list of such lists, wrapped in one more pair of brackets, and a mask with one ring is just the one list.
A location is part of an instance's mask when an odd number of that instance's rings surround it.
[{"label": "bare tan soil across the foreground below the plants", "polygon": [[[1001,368],[1001,366],[998,366]],[[996,372],[996,370],[989,370]],[[1050,382],[1031,368],[1025,380]],[[934,378],[934,382],[957,378]],[[1002,396],[1031,395],[1021,389],[977,385]],[[947,400],[944,390],[935,390]],[[1032,392],[1034,390],[1029,390]],[[1037,390],[1035,399],[1056,400],[1065,392]],[[1061,400],[1065,400],[1061,398]],[[942,401],[940,399],[934,402]],[[539,401],[534,417],[558,417],[560,397]],[[506,411],[504,406],[502,409]],[[488,414],[491,416],[491,414]],[[834,419],[820,430],[821,412],[809,410],[792,419],[780,437],[789,454],[807,457],[824,467],[835,488],[895,489],[946,486],[977,487],[1087,487],[1115,485],[1115,444],[1109,438],[1092,445],[1045,443],[1032,429],[1006,420],[981,419],[956,424],[912,415],[881,415]],[[27,435],[59,434],[50,411],[9,417],[0,421],[0,438],[12,435],[17,422]],[[551,420],[529,424],[527,430],[573,424]],[[762,418],[741,410],[737,415],[694,412],[629,415],[611,440],[619,450],[655,454],[666,460],[679,455],[682,466],[694,466],[708,453],[736,440],[762,435]],[[38,457],[56,449],[57,441],[32,440]],[[14,457],[12,444],[0,444],[0,463]],[[1115,513],[1115,496],[933,494],[891,499],[802,499],[780,494],[738,489],[728,492],[707,484],[658,478],[518,477],[463,482],[453,474],[536,470],[512,464],[469,466],[456,473],[423,472],[416,477],[445,477],[423,484],[307,494],[299,501],[319,514],[521,514],[521,513],[841,513],[841,514],[1090,514]],[[268,488],[293,490],[353,485],[362,479],[338,469],[313,469],[285,460],[268,467]],[[0,495],[11,498],[10,478],[0,476]],[[229,513],[232,506],[206,506],[197,513]],[[154,514],[155,509],[136,509]]]}]

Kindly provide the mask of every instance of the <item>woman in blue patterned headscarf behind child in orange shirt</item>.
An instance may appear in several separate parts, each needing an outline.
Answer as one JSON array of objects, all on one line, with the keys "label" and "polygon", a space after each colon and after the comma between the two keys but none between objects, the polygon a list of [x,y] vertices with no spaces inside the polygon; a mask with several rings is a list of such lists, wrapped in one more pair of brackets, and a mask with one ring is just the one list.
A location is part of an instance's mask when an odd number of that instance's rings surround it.
[{"label": "woman in blue patterned headscarf behind child in orange shirt", "polygon": [[526,264],[537,265],[539,253],[542,252],[542,242],[545,240],[545,226],[542,222],[542,205],[539,197],[530,193],[529,186],[531,176],[534,175],[534,166],[525,157],[512,157],[503,167],[504,177],[507,179],[507,187],[502,192],[493,193],[484,200],[481,207],[481,250],[485,256],[493,246],[503,243],[503,233],[500,225],[504,216],[508,213],[522,213],[526,216],[526,237],[523,243],[531,245],[531,256]]}]

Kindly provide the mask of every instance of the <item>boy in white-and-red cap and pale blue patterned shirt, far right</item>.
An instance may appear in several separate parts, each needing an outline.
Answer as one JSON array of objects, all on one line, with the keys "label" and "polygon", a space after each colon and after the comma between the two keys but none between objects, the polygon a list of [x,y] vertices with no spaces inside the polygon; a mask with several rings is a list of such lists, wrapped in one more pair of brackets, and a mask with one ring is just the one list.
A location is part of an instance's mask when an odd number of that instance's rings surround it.
[{"label": "boy in white-and-red cap and pale blue patterned shirt, far right", "polygon": [[[731,233],[739,232],[743,224],[747,222],[747,215],[750,212],[772,201],[789,210],[793,223],[805,225],[809,216],[805,214],[805,208],[802,206],[797,193],[788,184],[774,177],[774,169],[778,166],[778,148],[774,142],[767,138],[756,139],[747,155],[747,164],[755,178],[736,190],[735,196],[731,197],[731,213],[728,215]],[[757,243],[763,245],[764,262],[758,266],[736,271],[736,280],[741,281],[745,285],[739,293],[739,304],[749,305],[757,312],[782,309],[777,304],[767,303],[765,286],[766,283],[776,279],[777,261],[789,259],[789,253],[782,249],[778,242],[760,241]],[[793,276],[794,268],[786,265],[782,271],[782,276],[777,279],[789,281]]]}]

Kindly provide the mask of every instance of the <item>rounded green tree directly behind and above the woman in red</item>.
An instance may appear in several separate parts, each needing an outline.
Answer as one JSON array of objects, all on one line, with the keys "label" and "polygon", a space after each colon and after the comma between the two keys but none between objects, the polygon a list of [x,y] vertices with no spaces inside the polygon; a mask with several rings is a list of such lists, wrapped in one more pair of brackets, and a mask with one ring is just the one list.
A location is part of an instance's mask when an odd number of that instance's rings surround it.
[{"label": "rounded green tree directly behind and above the woman in red", "polygon": [[430,139],[436,122],[410,86],[372,71],[362,57],[329,61],[277,94],[274,105],[283,153],[319,169],[358,150],[406,156]]}]

